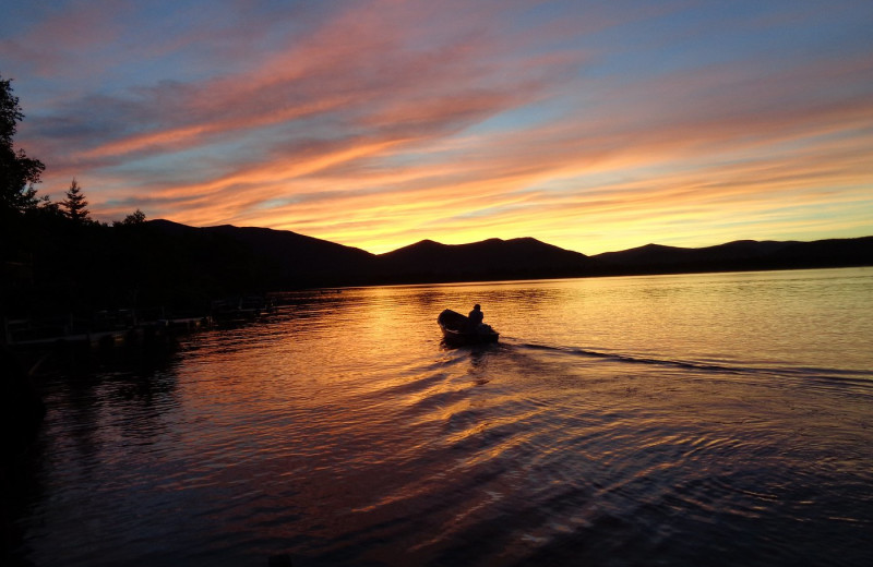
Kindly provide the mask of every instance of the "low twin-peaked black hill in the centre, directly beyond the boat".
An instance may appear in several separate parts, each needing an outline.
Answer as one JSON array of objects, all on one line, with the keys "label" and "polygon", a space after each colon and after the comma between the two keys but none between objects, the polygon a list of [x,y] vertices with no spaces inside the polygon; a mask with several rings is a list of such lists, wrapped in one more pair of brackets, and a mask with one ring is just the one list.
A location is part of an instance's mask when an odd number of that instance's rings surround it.
[{"label": "low twin-peaked black hill in the centre, directly beyond the boat", "polygon": [[584,276],[591,264],[585,254],[533,238],[470,244],[422,240],[380,255],[376,272],[400,281],[521,279]]}]

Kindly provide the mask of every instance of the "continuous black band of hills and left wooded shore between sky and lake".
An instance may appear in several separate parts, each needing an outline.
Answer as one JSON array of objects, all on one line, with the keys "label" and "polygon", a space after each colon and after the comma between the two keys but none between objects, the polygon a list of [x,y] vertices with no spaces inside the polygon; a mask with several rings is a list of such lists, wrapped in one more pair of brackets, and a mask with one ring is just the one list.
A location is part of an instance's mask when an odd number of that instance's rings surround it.
[{"label": "continuous black band of hills and left wooded shore between sky and lake", "polygon": [[873,266],[873,237],[648,244],[596,256],[533,238],[426,240],[374,255],[264,228],[168,220],[109,227],[51,215],[16,222],[3,227],[0,253],[0,315],[9,318],[130,307],[202,313],[215,299],[311,287]]}]

